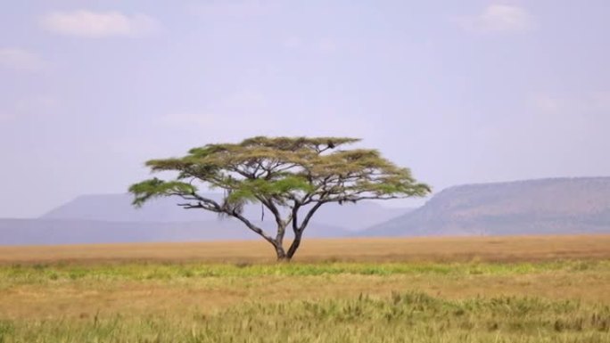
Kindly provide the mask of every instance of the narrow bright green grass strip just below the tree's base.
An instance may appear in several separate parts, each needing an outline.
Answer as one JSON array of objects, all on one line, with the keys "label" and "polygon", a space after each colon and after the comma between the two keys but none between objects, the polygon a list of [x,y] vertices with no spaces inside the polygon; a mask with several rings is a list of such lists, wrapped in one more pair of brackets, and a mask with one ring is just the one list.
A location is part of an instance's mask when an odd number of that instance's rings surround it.
[{"label": "narrow bright green grass strip just below the tree's base", "polygon": [[321,263],[321,264],[163,264],[119,265],[4,265],[0,287],[65,280],[145,281],[177,278],[315,276],[334,274],[392,275],[509,275],[610,271],[610,261],[556,261],[544,263]]}]

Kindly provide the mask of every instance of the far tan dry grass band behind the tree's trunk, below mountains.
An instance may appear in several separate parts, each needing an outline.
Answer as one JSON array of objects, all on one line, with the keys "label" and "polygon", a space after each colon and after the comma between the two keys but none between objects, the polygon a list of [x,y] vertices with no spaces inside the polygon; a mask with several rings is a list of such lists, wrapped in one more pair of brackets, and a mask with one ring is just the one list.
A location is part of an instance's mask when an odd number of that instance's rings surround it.
[{"label": "far tan dry grass band behind the tree's trunk, below mountains", "polygon": [[[269,262],[264,241],[0,246],[0,264],[104,261]],[[305,240],[295,259],[354,262],[545,261],[610,258],[610,235]]]}]

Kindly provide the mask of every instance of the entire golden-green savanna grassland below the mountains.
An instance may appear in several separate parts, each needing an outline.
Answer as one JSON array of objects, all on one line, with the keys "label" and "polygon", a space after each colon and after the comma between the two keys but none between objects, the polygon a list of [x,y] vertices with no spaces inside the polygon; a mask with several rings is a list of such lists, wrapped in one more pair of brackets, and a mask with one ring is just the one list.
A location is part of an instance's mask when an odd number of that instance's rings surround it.
[{"label": "entire golden-green savanna grassland below the mountains", "polygon": [[610,236],[0,247],[0,342],[610,342]]}]

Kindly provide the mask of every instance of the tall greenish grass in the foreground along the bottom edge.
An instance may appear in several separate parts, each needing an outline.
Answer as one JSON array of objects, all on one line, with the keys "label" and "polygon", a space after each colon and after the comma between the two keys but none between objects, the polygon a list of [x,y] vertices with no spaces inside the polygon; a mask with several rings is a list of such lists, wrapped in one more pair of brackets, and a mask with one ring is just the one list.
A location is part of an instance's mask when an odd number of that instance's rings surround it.
[{"label": "tall greenish grass in the foreground along the bottom edge", "polygon": [[0,342],[610,342],[610,307],[541,298],[247,302],[215,314],[4,320]]}]

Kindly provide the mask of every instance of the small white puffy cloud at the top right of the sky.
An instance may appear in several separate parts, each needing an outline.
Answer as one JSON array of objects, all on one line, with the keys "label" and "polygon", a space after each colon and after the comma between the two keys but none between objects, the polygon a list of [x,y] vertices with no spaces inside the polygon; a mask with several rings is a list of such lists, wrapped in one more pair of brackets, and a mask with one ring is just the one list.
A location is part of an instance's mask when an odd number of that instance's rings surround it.
[{"label": "small white puffy cloud at the top right of the sky", "polygon": [[490,4],[478,15],[459,17],[462,28],[475,32],[525,32],[533,28],[532,15],[522,7]]}]

